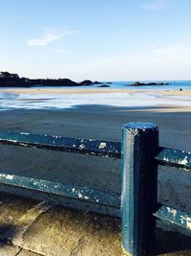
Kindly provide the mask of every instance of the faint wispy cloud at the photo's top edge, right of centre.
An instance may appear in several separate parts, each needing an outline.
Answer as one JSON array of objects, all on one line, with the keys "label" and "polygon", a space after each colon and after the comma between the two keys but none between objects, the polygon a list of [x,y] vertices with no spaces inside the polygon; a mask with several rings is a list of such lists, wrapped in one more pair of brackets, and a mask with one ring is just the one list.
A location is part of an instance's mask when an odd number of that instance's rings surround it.
[{"label": "faint wispy cloud at the photo's top edge, right of centre", "polygon": [[151,0],[142,4],[140,8],[146,11],[161,11],[167,9],[170,2],[171,0]]}]

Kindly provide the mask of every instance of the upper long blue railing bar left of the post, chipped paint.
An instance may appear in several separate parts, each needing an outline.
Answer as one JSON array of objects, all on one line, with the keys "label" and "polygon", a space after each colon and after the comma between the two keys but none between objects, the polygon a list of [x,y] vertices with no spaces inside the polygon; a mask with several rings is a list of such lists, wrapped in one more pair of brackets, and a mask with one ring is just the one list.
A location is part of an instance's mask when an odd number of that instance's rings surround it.
[{"label": "upper long blue railing bar left of the post, chipped paint", "polygon": [[0,131],[0,144],[121,158],[121,143]]}]

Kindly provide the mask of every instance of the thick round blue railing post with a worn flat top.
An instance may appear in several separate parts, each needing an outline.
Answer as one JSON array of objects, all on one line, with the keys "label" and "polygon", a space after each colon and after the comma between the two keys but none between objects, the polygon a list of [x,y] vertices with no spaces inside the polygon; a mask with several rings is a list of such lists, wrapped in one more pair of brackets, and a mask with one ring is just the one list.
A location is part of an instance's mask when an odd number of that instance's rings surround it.
[{"label": "thick round blue railing post with a worn flat top", "polygon": [[122,248],[132,256],[148,255],[155,238],[152,217],[157,204],[159,128],[154,124],[130,123],[123,127],[122,142]]}]

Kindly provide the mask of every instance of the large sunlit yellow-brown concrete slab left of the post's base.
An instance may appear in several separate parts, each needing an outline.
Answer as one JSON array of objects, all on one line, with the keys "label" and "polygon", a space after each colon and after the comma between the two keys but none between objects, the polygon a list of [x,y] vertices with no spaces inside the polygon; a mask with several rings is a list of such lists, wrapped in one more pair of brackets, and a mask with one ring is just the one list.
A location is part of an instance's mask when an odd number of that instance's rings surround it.
[{"label": "large sunlit yellow-brown concrete slab left of the post's base", "polygon": [[54,206],[13,243],[50,256],[121,256],[119,234],[118,220]]}]

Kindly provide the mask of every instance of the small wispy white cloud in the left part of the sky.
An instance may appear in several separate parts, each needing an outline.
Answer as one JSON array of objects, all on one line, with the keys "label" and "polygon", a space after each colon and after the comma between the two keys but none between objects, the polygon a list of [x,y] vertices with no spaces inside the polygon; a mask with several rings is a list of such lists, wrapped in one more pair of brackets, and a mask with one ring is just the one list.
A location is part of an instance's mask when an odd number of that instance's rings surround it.
[{"label": "small wispy white cloud in the left part of the sky", "polygon": [[39,38],[33,38],[27,40],[27,44],[29,46],[46,46],[47,44],[53,42],[53,41],[58,41],[64,36],[68,35],[74,35],[76,34],[76,31],[65,31],[62,33],[48,33],[42,37]]}]

